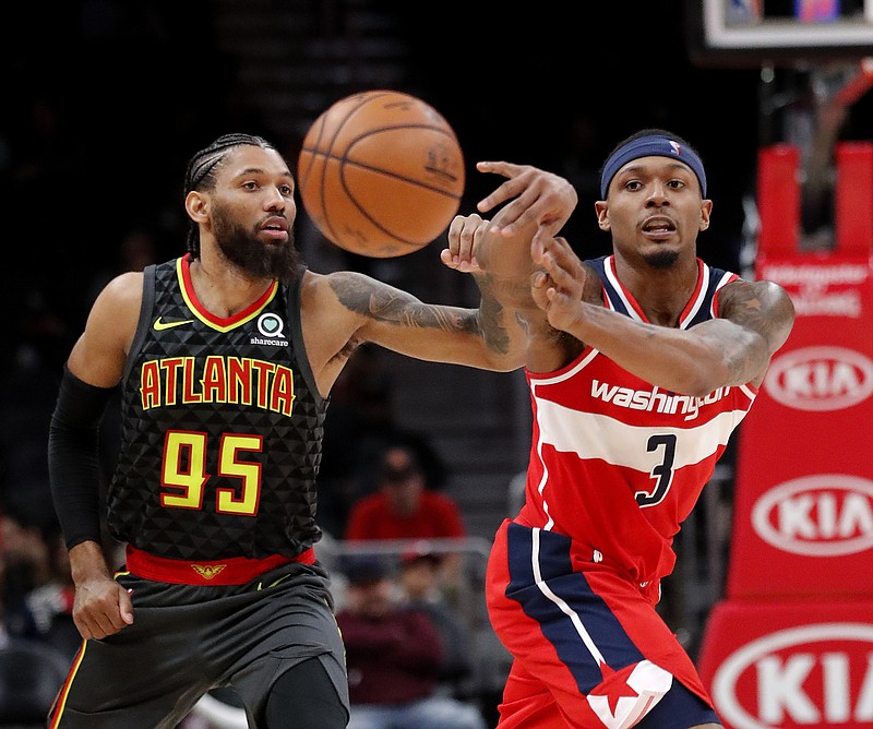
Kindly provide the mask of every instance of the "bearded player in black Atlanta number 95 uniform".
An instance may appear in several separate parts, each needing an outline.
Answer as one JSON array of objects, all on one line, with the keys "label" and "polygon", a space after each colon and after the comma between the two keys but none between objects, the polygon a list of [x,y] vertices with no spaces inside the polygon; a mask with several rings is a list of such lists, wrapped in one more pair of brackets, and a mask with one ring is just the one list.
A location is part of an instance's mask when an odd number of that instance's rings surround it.
[{"label": "bearded player in black Atlanta number 95 uniform", "polygon": [[[480,210],[506,203],[495,218],[504,235],[553,235],[575,207],[562,178],[491,170],[507,179]],[[331,386],[364,342],[431,361],[521,364],[521,333],[487,271],[455,266],[476,274],[473,310],[307,270],[294,190],[260,138],[227,135],[196,153],[188,254],[110,282],[70,354],[49,465],[84,642],[50,727],[171,729],[228,685],[251,727],[345,727],[343,645],[313,549]],[[127,560],[113,573],[100,547],[97,429],[116,387],[122,444],[103,515]]]}]

